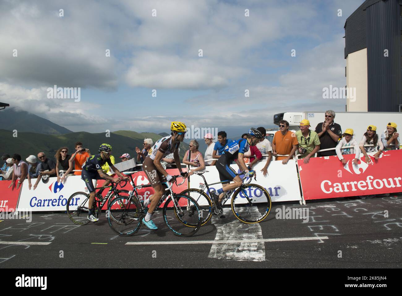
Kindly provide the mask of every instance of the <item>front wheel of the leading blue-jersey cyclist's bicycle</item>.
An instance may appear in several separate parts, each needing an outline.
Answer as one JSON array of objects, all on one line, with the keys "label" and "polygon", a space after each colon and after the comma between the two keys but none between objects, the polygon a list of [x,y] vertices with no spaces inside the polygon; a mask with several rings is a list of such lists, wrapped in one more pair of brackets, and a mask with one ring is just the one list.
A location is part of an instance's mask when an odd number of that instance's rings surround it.
[{"label": "front wheel of the leading blue-jersey cyclist's bicycle", "polygon": [[248,184],[232,196],[232,212],[240,221],[254,224],[263,221],[271,211],[271,196],[264,187]]}]

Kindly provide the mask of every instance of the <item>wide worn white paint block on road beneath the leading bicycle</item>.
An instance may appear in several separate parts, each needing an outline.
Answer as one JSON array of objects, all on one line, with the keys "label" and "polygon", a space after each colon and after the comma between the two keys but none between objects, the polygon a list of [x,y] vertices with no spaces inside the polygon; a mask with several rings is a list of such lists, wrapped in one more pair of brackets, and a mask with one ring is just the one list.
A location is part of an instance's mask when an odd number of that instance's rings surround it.
[{"label": "wide worn white paint block on road beneath the leading bicycle", "polygon": [[[256,207],[240,208],[242,212],[250,212],[252,218],[258,218],[260,212]],[[231,209],[224,209],[226,217],[232,215]],[[255,217],[254,217],[255,216]],[[215,218],[215,217],[214,217]],[[265,261],[265,244],[260,224],[246,224],[235,219],[227,223],[226,219],[214,219],[212,224],[217,228],[215,241],[209,251],[209,258],[236,261]],[[221,241],[228,241],[222,244]]]}]

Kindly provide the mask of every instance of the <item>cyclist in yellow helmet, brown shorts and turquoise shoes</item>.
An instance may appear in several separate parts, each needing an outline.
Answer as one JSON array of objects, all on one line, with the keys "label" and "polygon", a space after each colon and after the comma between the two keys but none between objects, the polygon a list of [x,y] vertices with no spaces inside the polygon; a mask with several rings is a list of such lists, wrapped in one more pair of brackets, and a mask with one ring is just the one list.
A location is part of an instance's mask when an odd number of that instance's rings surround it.
[{"label": "cyclist in yellow helmet, brown shorts and turquoise shoes", "polygon": [[142,164],[145,175],[155,191],[153,195],[144,201],[144,208],[147,210],[148,205],[149,208],[145,218],[142,219],[142,222],[148,228],[154,230],[158,229],[158,227],[156,227],[151,218],[152,214],[154,214],[156,206],[158,205],[158,202],[160,201],[160,198],[164,193],[162,182],[165,182],[165,178],[167,181],[174,181],[174,177],[165,171],[160,163],[160,160],[162,160],[162,158],[164,158],[166,155],[173,153],[174,162],[180,171],[180,175],[185,178],[187,177],[187,173],[181,171],[180,158],[178,155],[178,146],[180,145],[180,142],[183,142],[184,140],[187,127],[183,122],[173,121],[170,125],[170,130],[171,134],[169,136],[156,141],[151,149],[152,152],[148,154]]}]

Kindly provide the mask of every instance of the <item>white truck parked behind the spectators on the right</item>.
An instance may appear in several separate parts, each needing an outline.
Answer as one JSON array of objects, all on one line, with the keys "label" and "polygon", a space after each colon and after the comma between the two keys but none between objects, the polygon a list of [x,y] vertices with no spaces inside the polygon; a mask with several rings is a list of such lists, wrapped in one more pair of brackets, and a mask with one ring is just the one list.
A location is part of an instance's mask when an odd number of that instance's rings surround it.
[{"label": "white truck parked behind the spectators on the right", "polygon": [[[300,121],[308,119],[310,121],[310,129],[316,129],[320,122],[325,120],[325,111],[304,111],[304,112],[284,112],[274,115],[274,124],[279,125],[282,119],[289,122],[289,130],[299,130]],[[363,134],[367,131],[369,125],[377,127],[377,135],[387,129],[389,122],[395,122],[398,127],[398,133],[402,131],[402,112],[336,112],[334,121],[340,124],[342,132],[347,128],[354,131],[355,138],[359,142]],[[276,130],[267,131],[269,140],[273,138]],[[268,135],[269,134],[269,135]],[[271,138],[272,137],[272,138]]]}]

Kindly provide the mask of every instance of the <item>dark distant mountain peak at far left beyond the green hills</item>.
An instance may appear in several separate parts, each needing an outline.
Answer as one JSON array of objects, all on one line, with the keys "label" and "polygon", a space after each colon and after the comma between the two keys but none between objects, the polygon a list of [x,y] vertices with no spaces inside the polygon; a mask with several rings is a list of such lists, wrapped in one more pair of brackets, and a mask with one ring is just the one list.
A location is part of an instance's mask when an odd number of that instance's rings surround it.
[{"label": "dark distant mountain peak at far left beyond the green hills", "polygon": [[13,108],[6,108],[0,113],[0,127],[2,129],[14,130],[18,132],[33,132],[39,134],[67,134],[72,133],[47,119],[39,117],[27,111],[16,111]]}]

